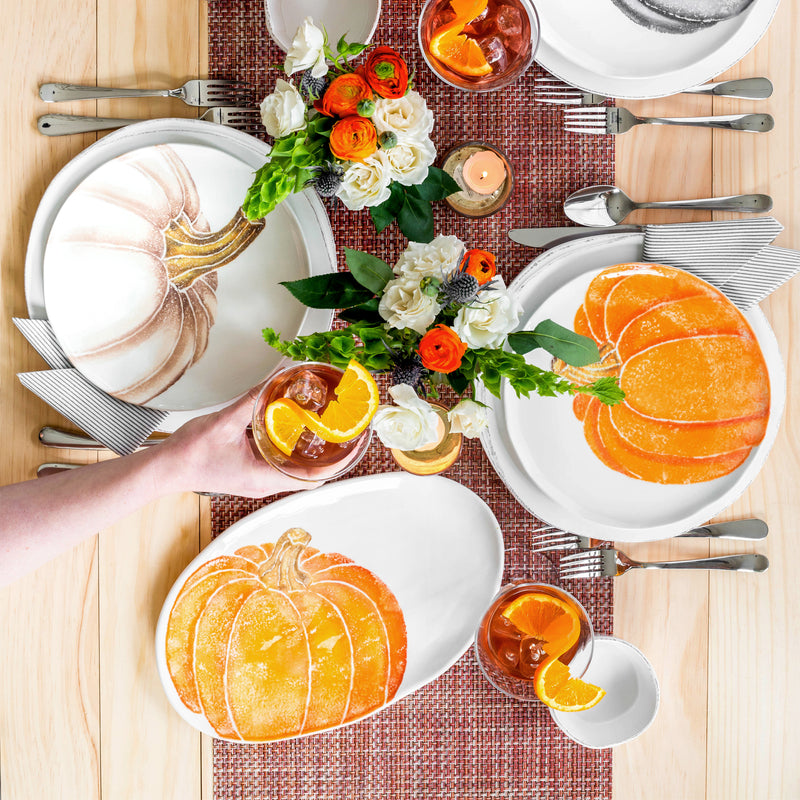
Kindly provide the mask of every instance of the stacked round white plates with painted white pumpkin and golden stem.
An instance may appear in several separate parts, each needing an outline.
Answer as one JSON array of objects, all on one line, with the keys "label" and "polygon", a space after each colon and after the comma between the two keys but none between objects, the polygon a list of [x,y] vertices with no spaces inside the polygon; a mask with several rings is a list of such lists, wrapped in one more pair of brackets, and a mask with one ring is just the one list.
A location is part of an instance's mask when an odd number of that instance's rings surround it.
[{"label": "stacked round white plates with painted white pumpkin and golden stem", "polygon": [[[296,336],[330,327],[331,312],[292,302],[280,286],[336,268],[316,195],[293,195],[263,228],[239,213],[268,152],[199,120],[131,125],[69,162],[34,219],[30,316],[50,320],[73,365],[99,388],[176,412],[164,430],[224,406],[275,369],[280,356],[262,328]],[[172,251],[163,231],[174,231]],[[198,259],[208,272],[192,272]],[[165,283],[168,262],[184,264],[189,288]]]}]

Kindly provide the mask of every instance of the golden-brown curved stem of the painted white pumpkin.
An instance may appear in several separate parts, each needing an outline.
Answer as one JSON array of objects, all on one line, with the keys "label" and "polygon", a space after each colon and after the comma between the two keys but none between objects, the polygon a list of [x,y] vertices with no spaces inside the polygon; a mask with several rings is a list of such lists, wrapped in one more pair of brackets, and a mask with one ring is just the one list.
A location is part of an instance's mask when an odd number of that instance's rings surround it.
[{"label": "golden-brown curved stem of the painted white pumpkin", "polygon": [[178,289],[187,289],[199,277],[239,256],[261,233],[263,219],[249,220],[240,208],[231,221],[213,233],[195,230],[181,213],[164,231],[167,274]]}]

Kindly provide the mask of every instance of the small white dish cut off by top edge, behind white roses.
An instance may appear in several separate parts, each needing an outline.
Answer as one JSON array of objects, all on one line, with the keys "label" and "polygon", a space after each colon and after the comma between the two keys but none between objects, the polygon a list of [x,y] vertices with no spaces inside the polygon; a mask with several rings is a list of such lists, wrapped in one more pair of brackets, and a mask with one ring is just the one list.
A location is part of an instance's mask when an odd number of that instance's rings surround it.
[{"label": "small white dish cut off by top edge, behind white roses", "polygon": [[332,50],[344,36],[348,42],[368,44],[381,15],[381,0],[264,0],[267,32],[288,53],[292,39],[306,17],[328,32]]}]

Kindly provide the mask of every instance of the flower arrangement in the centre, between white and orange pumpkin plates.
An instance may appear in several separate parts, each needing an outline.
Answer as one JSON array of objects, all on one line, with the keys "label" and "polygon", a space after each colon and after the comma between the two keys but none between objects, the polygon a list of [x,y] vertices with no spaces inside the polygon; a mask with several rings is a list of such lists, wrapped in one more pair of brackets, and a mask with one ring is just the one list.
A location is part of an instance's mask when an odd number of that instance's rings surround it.
[{"label": "flower arrangement in the centre, between white and orange pumpkin plates", "polygon": [[507,380],[518,396],[583,393],[613,405],[623,398],[615,377],[578,386],[531,364],[543,348],[574,367],[600,361],[597,344],[551,320],[517,331],[521,308],[497,271],[495,256],[467,249],[455,236],[412,242],[394,267],[369,253],[346,249],[349,272],[318,275],[284,286],[312,308],[340,309],[340,329],[285,341],[272,328],[264,339],[295,361],[346,367],[356,359],[373,372],[391,372],[396,406],[374,419],[381,441],[401,450],[433,443],[437,421],[426,399],[449,385],[462,397],[449,412],[451,430],[477,436],[487,409],[470,399],[476,382],[500,396]]}]

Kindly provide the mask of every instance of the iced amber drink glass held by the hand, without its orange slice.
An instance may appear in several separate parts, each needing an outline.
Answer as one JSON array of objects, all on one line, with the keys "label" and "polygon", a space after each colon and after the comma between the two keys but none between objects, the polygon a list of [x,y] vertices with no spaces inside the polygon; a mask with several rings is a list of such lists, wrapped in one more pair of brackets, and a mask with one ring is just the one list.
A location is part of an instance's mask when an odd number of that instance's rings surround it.
[{"label": "iced amber drink glass held by the hand, without its orange slice", "polygon": [[253,407],[253,438],[259,452],[275,469],[304,481],[327,481],[351,470],[363,458],[372,437],[368,427],[347,442],[325,442],[306,428],[290,456],[269,438],[265,422],[267,406],[290,397],[303,408],[322,413],[335,398],[334,389],[344,370],[331,364],[301,362],[273,373]]}]

